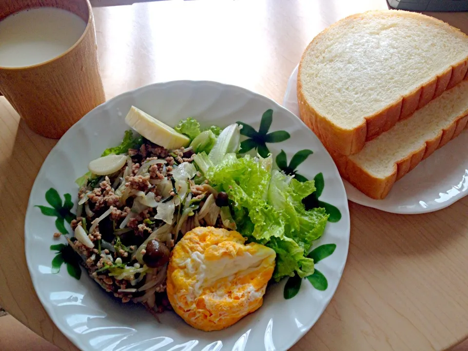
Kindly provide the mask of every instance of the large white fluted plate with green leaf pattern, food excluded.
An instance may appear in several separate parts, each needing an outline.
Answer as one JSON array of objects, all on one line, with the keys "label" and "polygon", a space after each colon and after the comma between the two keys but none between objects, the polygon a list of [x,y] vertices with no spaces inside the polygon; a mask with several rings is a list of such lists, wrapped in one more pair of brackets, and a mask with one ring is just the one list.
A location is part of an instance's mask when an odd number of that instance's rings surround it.
[{"label": "large white fluted plate with green leaf pattern, food excluded", "polygon": [[[263,307],[257,312],[226,330],[207,333],[189,327],[173,312],[160,315],[161,323],[157,323],[143,307],[117,302],[84,271],[79,280],[71,277],[65,266],[52,274],[55,253],[49,247],[57,244],[52,237],[57,232],[56,218],[42,215],[35,205],[48,206],[45,193],[50,188],[56,189],[61,198],[71,194],[76,202],[78,187],[74,180],[86,171],[89,160],[120,143],[127,129],[124,116],[131,105],[169,125],[175,125],[181,118],[195,117],[206,126],[227,126],[240,120],[256,130],[262,114],[273,109],[270,132],[283,130],[291,135],[288,140],[267,144],[273,156],[284,150],[291,160],[298,150],[313,150],[313,155],[299,165],[298,172],[310,178],[323,173],[325,188],[320,200],[336,206],[342,215],[339,221],[328,223],[324,235],[313,245],[316,248],[336,244],[334,253],[316,265],[328,279],[328,289],[316,290],[308,280],[303,280],[298,294],[285,300],[286,280],[283,280],[268,289]],[[65,225],[70,230],[66,222]],[[343,183],[315,135],[299,118],[271,99],[208,81],[145,86],[113,98],[83,117],[44,161],[31,191],[25,220],[26,259],[42,305],[78,348],[99,351],[287,350],[312,327],[330,302],[346,263],[349,237],[350,219]]]}]

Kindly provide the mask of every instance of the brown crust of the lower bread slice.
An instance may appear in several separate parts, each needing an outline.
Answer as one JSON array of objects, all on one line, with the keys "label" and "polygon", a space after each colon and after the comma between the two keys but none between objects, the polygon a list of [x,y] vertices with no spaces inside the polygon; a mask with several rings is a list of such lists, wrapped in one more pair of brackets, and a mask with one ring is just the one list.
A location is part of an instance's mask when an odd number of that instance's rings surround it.
[{"label": "brown crust of the lower bread slice", "polygon": [[405,176],[435,150],[458,137],[465,129],[468,129],[468,110],[458,116],[447,128],[441,130],[436,137],[427,140],[421,148],[395,162],[393,172],[385,178],[372,176],[348,156],[333,150],[329,150],[329,152],[343,178],[367,196],[373,199],[383,199],[389,194],[397,180]]}]

